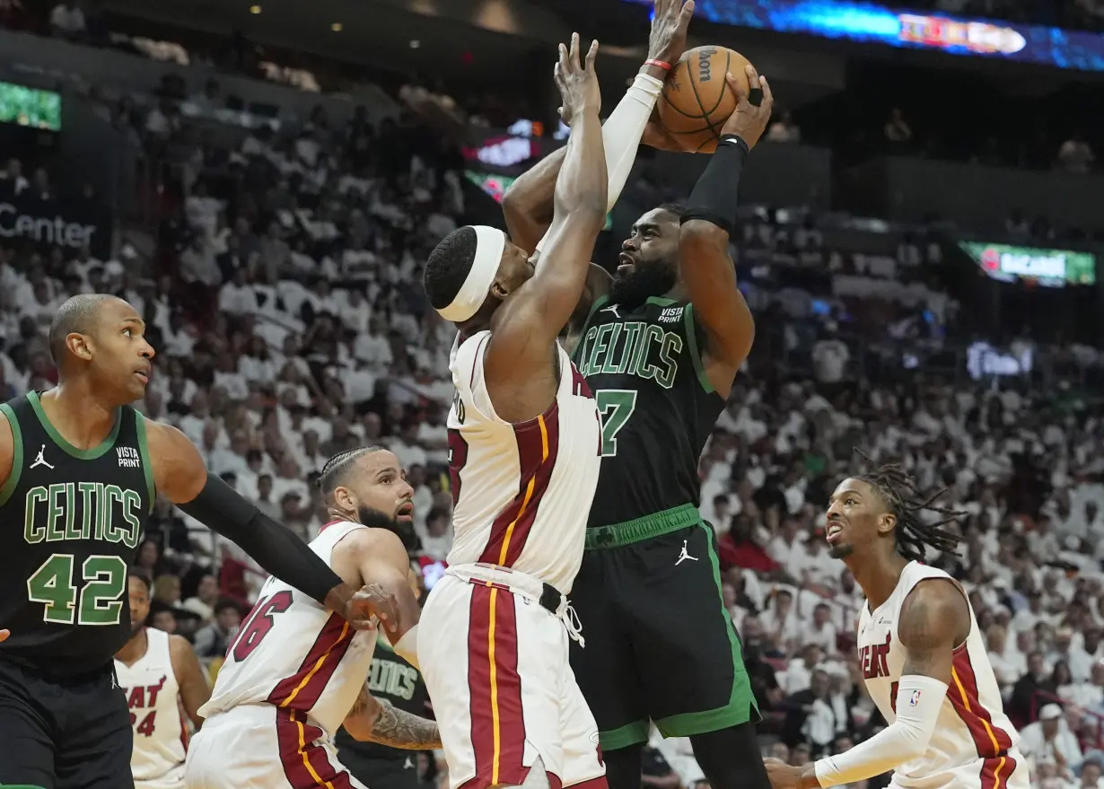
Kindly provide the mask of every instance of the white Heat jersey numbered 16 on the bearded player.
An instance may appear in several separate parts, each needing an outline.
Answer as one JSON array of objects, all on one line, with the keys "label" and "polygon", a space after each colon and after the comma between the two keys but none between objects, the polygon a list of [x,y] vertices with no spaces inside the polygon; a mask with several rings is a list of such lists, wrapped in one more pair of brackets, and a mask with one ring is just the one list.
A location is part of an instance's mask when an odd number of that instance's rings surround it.
[{"label": "white Heat jersey numbered 16 on the bearded player", "polygon": [[[310,548],[327,564],[333,547],[359,523],[322,526]],[[301,712],[332,736],[368,679],[374,630],[353,630],[338,614],[270,577],[226,650],[211,700],[200,714],[213,717],[244,704]]]}]

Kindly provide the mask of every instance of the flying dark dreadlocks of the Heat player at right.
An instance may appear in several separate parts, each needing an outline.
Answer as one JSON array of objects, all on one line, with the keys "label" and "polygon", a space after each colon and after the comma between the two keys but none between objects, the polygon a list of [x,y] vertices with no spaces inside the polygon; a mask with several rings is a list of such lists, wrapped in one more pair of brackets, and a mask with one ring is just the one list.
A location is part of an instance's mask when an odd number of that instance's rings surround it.
[{"label": "flying dark dreadlocks of the Heat player at right", "polygon": [[[854,452],[869,466],[874,465],[874,461],[858,447],[856,447]],[[969,513],[935,503],[941,495],[947,492],[946,488],[941,488],[934,494],[925,497],[916,488],[915,480],[901,467],[901,463],[879,466],[873,471],[859,475],[858,479],[873,487],[885,501],[890,512],[896,516],[898,525],[894,534],[898,551],[905,558],[916,562],[923,561],[927,546],[936,551],[954,552],[958,543],[962,542],[962,536],[944,529],[944,526],[948,523],[957,523]],[[925,523],[921,519],[923,512],[933,512],[943,518]]]}]

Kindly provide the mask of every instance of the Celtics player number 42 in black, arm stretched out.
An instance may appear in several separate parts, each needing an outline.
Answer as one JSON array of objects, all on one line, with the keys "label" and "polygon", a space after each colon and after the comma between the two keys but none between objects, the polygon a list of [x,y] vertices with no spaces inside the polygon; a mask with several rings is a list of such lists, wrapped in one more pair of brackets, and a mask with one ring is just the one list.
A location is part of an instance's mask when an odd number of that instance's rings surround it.
[{"label": "Celtics player number 42 in black, arm stretched out", "polygon": [[161,493],[351,627],[394,622],[288,529],[146,419],[153,349],[126,301],[65,301],[50,327],[59,384],[0,405],[0,785],[129,786],[131,726],[113,657],[131,637],[127,568]]}]

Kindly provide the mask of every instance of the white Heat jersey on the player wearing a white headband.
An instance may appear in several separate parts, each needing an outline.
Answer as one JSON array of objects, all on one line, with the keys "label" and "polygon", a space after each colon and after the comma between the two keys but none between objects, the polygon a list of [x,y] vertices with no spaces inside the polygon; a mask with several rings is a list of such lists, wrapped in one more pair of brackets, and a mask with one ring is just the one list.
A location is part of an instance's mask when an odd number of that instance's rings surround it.
[{"label": "white Heat jersey on the player wearing a white headband", "polygon": [[448,412],[453,550],[448,564],[484,562],[540,578],[563,594],[583,561],[598,482],[602,424],[586,381],[556,343],[560,385],[535,419],[498,417],[484,378],[489,331],[457,338]]}]

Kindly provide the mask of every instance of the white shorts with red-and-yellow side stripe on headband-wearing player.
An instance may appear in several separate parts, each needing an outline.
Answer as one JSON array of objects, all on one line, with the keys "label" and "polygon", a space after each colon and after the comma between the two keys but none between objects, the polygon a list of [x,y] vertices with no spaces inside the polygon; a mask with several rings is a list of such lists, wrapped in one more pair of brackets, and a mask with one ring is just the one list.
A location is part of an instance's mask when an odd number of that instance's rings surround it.
[{"label": "white shorts with red-and-yellow side stripe on headband-wearing player", "polygon": [[520,786],[540,757],[552,789],[605,789],[598,727],[567,662],[567,631],[534,597],[540,582],[511,576],[503,584],[449,573],[422,612],[417,657],[449,787]]}]

